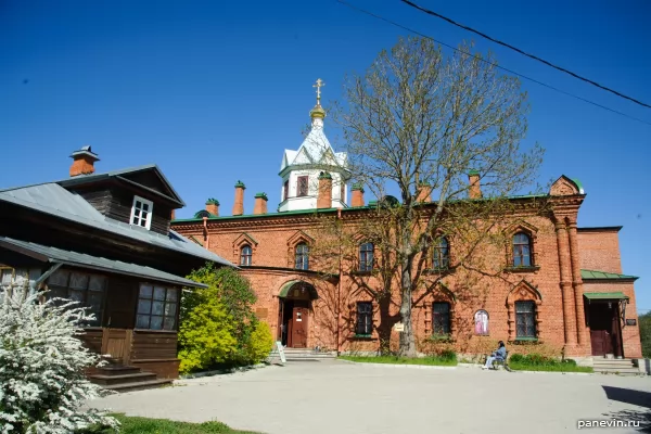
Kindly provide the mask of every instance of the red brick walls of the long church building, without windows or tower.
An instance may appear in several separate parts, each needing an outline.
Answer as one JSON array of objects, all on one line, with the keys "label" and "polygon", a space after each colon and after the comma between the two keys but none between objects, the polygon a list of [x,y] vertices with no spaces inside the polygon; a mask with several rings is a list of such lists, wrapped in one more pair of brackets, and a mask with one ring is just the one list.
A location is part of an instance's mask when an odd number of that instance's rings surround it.
[{"label": "red brick walls of the long church building, without windows or tower", "polygon": [[[561,218],[563,218],[563,225],[561,226],[564,228],[565,221],[569,220],[564,220],[564,217]],[[476,276],[470,278],[457,273],[445,279],[449,291],[438,289],[432,294],[425,294],[425,291],[422,290],[413,294],[413,327],[421,350],[426,350],[432,346],[427,342],[427,337],[432,334],[432,304],[435,301],[449,302],[452,309],[454,342],[446,345],[450,345],[461,353],[484,354],[498,340],[508,341],[515,337],[513,303],[519,299],[531,299],[535,301],[537,308],[538,343],[526,347],[510,345],[512,352],[539,352],[560,355],[561,348],[565,347],[567,356],[585,357],[590,355],[591,348],[587,329],[578,331],[578,333],[585,333],[583,345],[565,345],[566,335],[570,335],[573,342],[577,342],[577,312],[574,288],[580,289],[575,286],[577,282],[580,284],[580,276],[574,276],[575,273],[572,270],[572,260],[576,260],[576,255],[571,260],[571,246],[566,241],[570,231],[563,229],[559,232],[561,239],[565,240],[561,244],[562,248],[565,250],[563,251],[566,269],[564,291],[565,296],[569,297],[564,306],[563,291],[561,290],[559,234],[557,234],[554,222],[551,218],[539,216],[527,217],[525,220],[527,226],[536,230],[534,254],[538,269],[524,272],[506,272],[498,278],[478,278]],[[295,245],[302,241],[310,243],[315,237],[318,237],[314,225],[315,220],[309,216],[295,215],[241,218],[237,220],[212,219],[207,222],[209,235],[206,245],[209,246],[210,251],[235,264],[240,261],[241,246],[244,243],[252,246],[253,267],[243,267],[242,273],[251,280],[252,286],[258,296],[255,306],[258,317],[269,323],[275,339],[279,335],[278,294],[284,283],[291,280],[304,280],[312,283],[319,293],[319,299],[312,302],[309,314],[308,347],[320,345],[330,349],[335,349],[339,346],[342,350],[376,350],[381,344],[381,333],[379,331],[383,331],[382,335],[391,335],[390,345],[394,348],[397,347],[398,333],[391,331],[392,326],[398,321],[399,295],[398,291],[395,290],[398,288],[397,282],[393,286],[392,299],[387,301],[385,306],[381,306],[376,301],[373,301],[375,330],[370,340],[359,340],[354,336],[356,302],[372,301],[370,295],[365,291],[360,291],[359,281],[365,281],[371,288],[378,288],[380,283],[376,278],[352,276],[347,273],[348,268],[345,264],[341,283],[314,273],[292,269],[294,267]],[[175,230],[184,235],[194,235],[199,240],[204,240],[203,222],[177,224]],[[616,233],[604,233],[601,238],[599,235],[579,232],[582,267],[588,268],[585,265],[586,263],[604,261],[609,255],[612,263],[616,263],[618,267],[620,254]],[[586,245],[587,247],[585,247]],[[584,247],[586,248],[585,254]],[[451,250],[454,254],[454,245]],[[499,269],[506,266],[507,252],[503,250],[485,246],[480,251],[485,256],[487,266],[499,267]],[[314,266],[312,261],[310,268],[314,269]],[[256,267],[277,267],[277,269]],[[618,271],[618,268],[614,269],[613,267],[605,269],[605,271]],[[604,270],[603,266],[599,264],[593,265],[592,268]],[[469,284],[469,282],[471,283]],[[588,290],[584,289],[584,291]],[[633,292],[633,285],[630,285],[629,291]],[[582,299],[580,295],[578,299]],[[339,328],[337,306],[341,310]],[[635,307],[629,308],[631,312],[635,311]],[[474,314],[477,309],[488,311],[488,336],[474,335]],[[567,310],[566,318],[563,315],[564,310]],[[582,323],[584,319],[583,309],[579,308],[578,310],[580,317],[578,322]],[[570,326],[566,327],[567,319]],[[625,356],[634,357],[639,353],[639,336],[634,333],[633,328],[627,330],[626,333],[625,339],[628,343],[625,346]],[[637,344],[635,343],[636,340]]]}]

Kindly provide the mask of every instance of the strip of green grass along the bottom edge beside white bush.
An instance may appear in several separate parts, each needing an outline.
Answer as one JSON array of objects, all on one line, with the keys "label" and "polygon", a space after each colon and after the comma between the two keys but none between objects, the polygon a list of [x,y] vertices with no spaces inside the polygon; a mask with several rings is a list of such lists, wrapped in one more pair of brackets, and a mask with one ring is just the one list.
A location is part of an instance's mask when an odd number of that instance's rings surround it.
[{"label": "strip of green grass along the bottom edge beside white bush", "polygon": [[[187,423],[164,419],[132,418],[112,414],[122,423],[120,434],[259,434],[252,431],[231,430],[221,422]],[[77,434],[110,434],[108,429],[92,429]]]}]

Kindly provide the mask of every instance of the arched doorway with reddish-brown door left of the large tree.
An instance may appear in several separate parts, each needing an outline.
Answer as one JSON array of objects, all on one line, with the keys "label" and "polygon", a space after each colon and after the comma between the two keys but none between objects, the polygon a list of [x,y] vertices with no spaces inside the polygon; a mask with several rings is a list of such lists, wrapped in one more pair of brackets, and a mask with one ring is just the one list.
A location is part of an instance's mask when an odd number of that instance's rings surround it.
[{"label": "arched doorway with reddish-brown door left of the large tree", "polygon": [[311,301],[319,295],[314,285],[292,280],[280,289],[278,294],[278,340],[290,348],[306,348],[309,332],[309,309]]}]

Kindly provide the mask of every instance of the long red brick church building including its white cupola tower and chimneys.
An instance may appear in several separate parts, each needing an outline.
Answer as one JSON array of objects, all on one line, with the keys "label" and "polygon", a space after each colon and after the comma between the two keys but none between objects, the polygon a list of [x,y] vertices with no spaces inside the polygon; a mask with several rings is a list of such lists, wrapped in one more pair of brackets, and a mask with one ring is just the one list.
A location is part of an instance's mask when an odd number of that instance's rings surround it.
[{"label": "long red brick church building including its white cupola tower and chimneys", "polygon": [[[310,115],[312,130],[306,141],[298,151],[284,153],[277,213],[267,212],[267,195],[258,193],[253,213],[245,214],[245,186],[238,181],[232,215],[220,215],[219,202],[212,199],[194,218],[177,219],[171,226],[241,266],[258,296],[258,317],[283,344],[376,350],[384,333],[395,345],[397,285],[396,303],[385,308],[358,291],[360,276],[370,284],[376,279],[372,272],[365,277],[373,267],[372,244],[360,240],[357,260],[343,261],[339,272],[323,273],[310,263],[310,246],[319,237],[317,215],[353,225],[356,216],[371,209],[359,186],[350,189],[352,201],[346,201],[346,155],[335,153],[323,135],[324,112],[319,104]],[[328,158],[331,170],[323,173]],[[476,183],[470,194],[480,194],[478,189]],[[540,197],[551,204],[542,216],[527,206]],[[507,229],[511,248],[485,251],[500,261],[500,279],[484,291],[461,294],[459,279],[451,277],[432,293],[414,293],[419,348],[444,342],[460,353],[478,354],[503,340],[532,352],[562,350],[588,362],[591,356],[641,357],[637,278],[622,272],[621,227],[579,228],[585,197],[582,186],[564,176],[546,195],[513,197],[523,210]],[[438,246],[435,260],[445,263],[454,250],[447,242]]]}]

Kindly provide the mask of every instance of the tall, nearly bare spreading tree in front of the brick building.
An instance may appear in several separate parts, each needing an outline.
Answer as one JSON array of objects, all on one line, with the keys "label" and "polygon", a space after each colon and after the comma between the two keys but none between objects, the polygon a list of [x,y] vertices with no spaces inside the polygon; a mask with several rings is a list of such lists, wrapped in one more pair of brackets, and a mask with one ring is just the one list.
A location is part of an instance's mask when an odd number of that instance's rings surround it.
[{"label": "tall, nearly bare spreading tree in front of the brick building", "polygon": [[[497,229],[514,212],[508,197],[536,179],[544,151],[521,149],[526,93],[516,78],[498,74],[490,55],[446,58],[427,39],[399,39],[363,76],[346,80],[344,95],[331,113],[350,174],[379,200],[354,225],[374,240],[383,264],[383,288],[367,290],[385,297],[399,288],[399,353],[414,356],[414,292],[462,269],[487,272],[475,253],[501,242]],[[471,171],[481,197],[468,182]],[[455,239],[455,255],[425,283],[432,247],[444,238]]]}]

